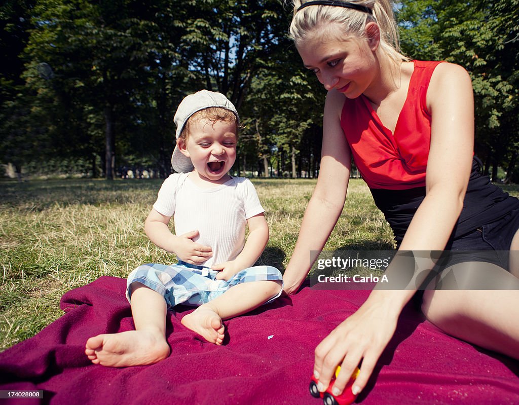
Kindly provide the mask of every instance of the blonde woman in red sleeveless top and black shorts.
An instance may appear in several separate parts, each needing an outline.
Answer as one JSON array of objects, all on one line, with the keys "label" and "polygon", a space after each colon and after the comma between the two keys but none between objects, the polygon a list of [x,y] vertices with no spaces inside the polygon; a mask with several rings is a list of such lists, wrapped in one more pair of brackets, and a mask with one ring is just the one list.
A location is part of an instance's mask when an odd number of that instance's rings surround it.
[{"label": "blonde woman in red sleeveless top and black shorts", "polygon": [[[481,177],[473,159],[473,96],[465,69],[401,55],[388,0],[295,0],[290,33],[328,93],[319,179],[283,276],[287,294],[297,291],[312,265],[309,251],[322,250],[337,222],[351,157],[399,252],[432,257],[444,250],[519,250],[519,200]],[[519,261],[496,257],[489,263],[471,255],[450,261],[443,268],[459,275],[458,289],[425,288],[421,295],[411,287],[424,281],[432,260],[418,263],[407,288],[375,288],[316,348],[319,390],[340,364],[334,384],[339,395],[362,361],[353,386],[358,394],[413,296],[446,333],[518,358]],[[399,263],[393,260],[386,270],[389,279],[408,271]],[[467,271],[477,277],[466,277]],[[503,290],[477,290],[490,281]]]}]

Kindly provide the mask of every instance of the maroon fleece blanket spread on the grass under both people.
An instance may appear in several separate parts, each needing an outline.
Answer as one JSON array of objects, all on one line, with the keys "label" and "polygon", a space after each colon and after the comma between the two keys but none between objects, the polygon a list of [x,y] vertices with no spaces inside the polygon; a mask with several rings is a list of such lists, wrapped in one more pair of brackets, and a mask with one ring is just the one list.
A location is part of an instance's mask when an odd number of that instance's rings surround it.
[{"label": "maroon fleece blanket spread on the grass under both people", "polygon": [[[368,294],[305,287],[292,299],[225,321],[223,346],[180,323],[192,310],[185,307],[168,313],[172,353],[166,360],[94,366],[84,355],[88,337],[133,329],[124,291],[125,280],[101,277],[67,292],[65,315],[0,354],[0,389],[43,390],[42,403],[66,405],[319,405],[308,393],[313,350]],[[517,361],[446,336],[407,307],[357,402],[518,404],[518,375]]]}]

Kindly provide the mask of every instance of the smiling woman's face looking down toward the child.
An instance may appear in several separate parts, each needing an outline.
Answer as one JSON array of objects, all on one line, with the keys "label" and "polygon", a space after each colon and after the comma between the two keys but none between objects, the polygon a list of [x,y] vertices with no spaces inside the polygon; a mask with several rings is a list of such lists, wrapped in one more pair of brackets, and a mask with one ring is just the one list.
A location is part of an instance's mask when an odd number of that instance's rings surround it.
[{"label": "smiling woman's face looking down toward the child", "polygon": [[340,38],[338,26],[308,35],[297,44],[305,67],[317,75],[326,90],[336,89],[350,99],[359,97],[376,76],[375,49],[367,39]]}]

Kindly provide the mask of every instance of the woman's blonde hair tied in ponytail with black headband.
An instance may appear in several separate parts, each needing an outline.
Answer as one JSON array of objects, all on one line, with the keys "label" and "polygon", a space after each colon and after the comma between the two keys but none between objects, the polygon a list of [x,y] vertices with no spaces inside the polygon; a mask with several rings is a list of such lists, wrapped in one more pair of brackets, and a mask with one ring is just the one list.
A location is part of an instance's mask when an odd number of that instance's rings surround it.
[{"label": "woman's blonde hair tied in ponytail with black headband", "polygon": [[[344,29],[345,36],[351,35],[364,38],[366,23],[376,22],[380,29],[380,47],[394,62],[409,60],[400,52],[397,23],[393,15],[393,2],[391,0],[358,0],[349,3],[364,6],[372,10],[368,12],[351,8],[312,5],[297,11],[308,0],[292,0],[294,4],[294,16],[290,24],[290,37],[295,44],[301,43],[316,28],[324,29],[331,24],[338,24]],[[337,0],[340,2],[342,0]]]}]

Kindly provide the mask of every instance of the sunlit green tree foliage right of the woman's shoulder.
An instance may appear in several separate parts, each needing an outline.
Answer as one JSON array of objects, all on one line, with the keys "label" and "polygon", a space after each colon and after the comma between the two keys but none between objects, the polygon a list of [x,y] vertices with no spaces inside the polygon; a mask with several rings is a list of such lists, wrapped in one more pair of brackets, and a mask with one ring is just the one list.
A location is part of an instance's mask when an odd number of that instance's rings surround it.
[{"label": "sunlit green tree foliage right of the woman's shoulder", "polygon": [[519,1],[401,2],[403,49],[413,58],[463,66],[475,96],[476,153],[486,170],[507,167],[510,180],[519,144]]}]

